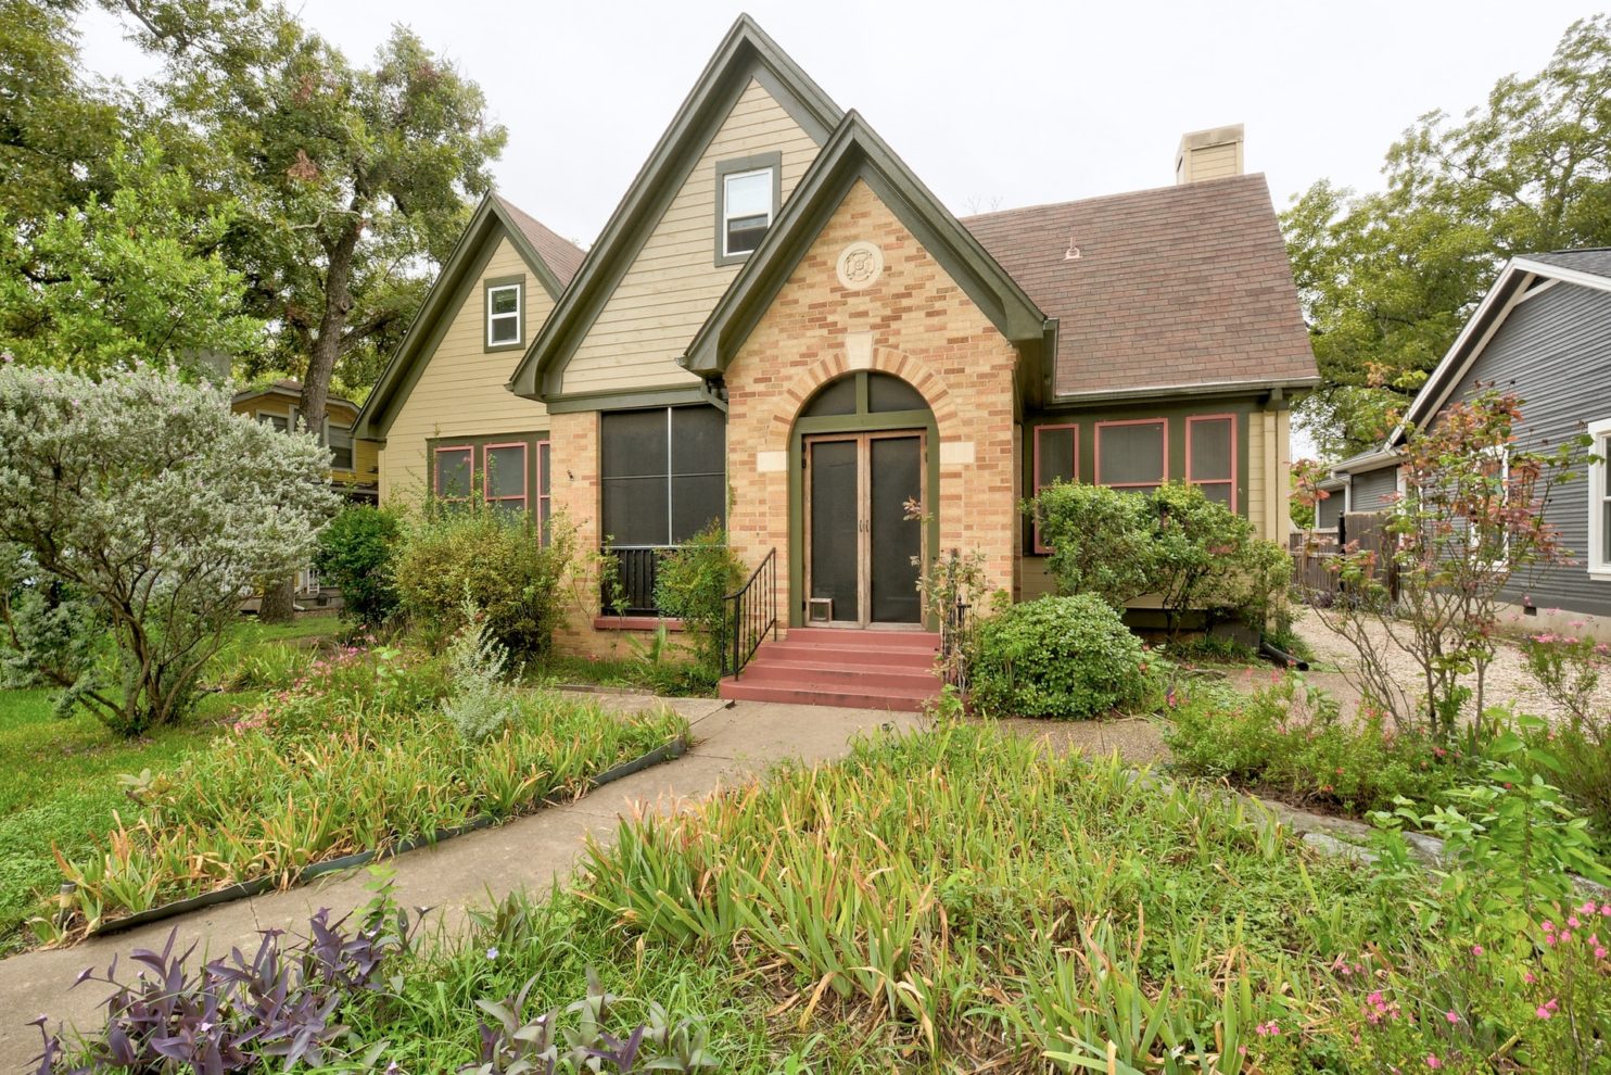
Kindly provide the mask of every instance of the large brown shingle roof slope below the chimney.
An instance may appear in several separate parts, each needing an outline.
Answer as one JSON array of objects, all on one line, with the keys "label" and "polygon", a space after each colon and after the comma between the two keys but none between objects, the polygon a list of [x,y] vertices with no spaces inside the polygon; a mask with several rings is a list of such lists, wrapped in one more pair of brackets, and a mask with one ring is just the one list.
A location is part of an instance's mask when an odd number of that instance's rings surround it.
[{"label": "large brown shingle roof slope below the chimney", "polygon": [[1058,319],[1057,395],[1316,376],[1263,176],[962,222]]}]

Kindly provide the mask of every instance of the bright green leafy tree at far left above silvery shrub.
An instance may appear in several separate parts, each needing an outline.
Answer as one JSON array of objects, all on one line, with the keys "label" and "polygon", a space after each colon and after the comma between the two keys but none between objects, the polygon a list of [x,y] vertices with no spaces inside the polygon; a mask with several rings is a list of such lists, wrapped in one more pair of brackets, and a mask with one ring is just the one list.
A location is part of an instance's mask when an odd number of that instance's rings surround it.
[{"label": "bright green leafy tree at far left above silvery shrub", "polygon": [[110,171],[110,197],[90,193],[26,240],[0,224],[0,350],[95,376],[129,356],[206,367],[259,348],[245,280],[217,255],[229,206],[195,211],[190,176],[155,140],[118,147]]}]

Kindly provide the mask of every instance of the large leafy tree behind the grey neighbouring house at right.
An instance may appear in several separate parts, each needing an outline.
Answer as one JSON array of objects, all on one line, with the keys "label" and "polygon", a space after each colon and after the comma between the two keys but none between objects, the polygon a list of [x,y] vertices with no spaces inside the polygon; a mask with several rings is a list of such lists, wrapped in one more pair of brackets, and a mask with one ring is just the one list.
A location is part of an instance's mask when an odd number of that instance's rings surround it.
[{"label": "large leafy tree behind the grey neighbouring house at right", "polygon": [[1611,16],[1463,118],[1421,116],[1384,172],[1379,193],[1319,181],[1282,214],[1326,379],[1302,417],[1327,454],[1382,438],[1506,258],[1611,245]]}]

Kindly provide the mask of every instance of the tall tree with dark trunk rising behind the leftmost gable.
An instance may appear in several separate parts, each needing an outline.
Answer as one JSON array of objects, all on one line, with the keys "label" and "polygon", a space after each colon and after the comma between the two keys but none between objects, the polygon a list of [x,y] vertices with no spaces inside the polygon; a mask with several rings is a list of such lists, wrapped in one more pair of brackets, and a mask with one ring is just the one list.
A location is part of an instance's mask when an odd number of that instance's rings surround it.
[{"label": "tall tree with dark trunk rising behind the leftmost gable", "polygon": [[190,151],[242,206],[224,256],[279,327],[267,364],[301,377],[298,413],[319,432],[337,371],[364,388],[401,338],[506,132],[404,27],[358,68],[279,3],[116,6],[168,58],[168,113],[200,132]]}]

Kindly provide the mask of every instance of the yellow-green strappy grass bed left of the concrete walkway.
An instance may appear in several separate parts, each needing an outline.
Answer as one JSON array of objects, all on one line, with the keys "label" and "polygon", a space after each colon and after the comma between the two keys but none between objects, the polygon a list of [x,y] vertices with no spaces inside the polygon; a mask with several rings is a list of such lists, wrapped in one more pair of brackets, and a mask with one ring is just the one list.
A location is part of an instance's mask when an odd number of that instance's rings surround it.
[{"label": "yellow-green strappy grass bed left of the concrete walkway", "polygon": [[470,743],[437,706],[451,690],[440,666],[388,654],[329,662],[214,749],[134,788],[137,809],[93,853],[61,861],[74,888],[61,924],[40,924],[47,940],[237,882],[288,886],[319,862],[528,812],[688,728],[667,709],[615,716],[530,693],[507,727]]}]

